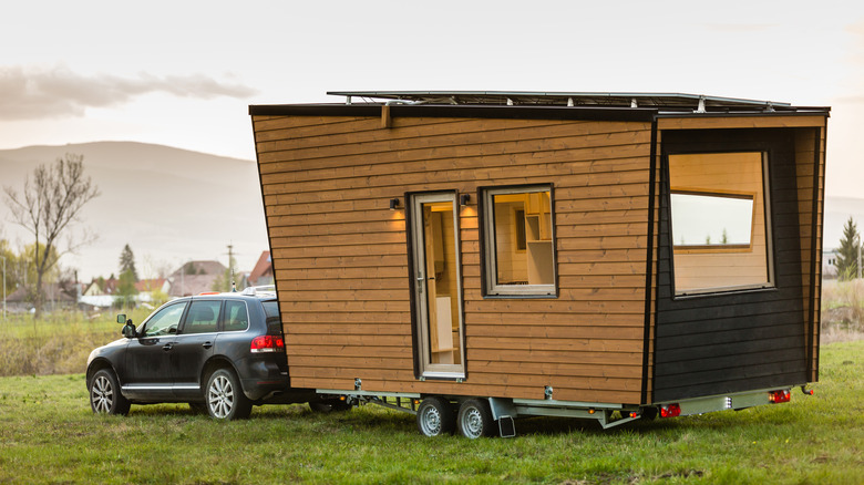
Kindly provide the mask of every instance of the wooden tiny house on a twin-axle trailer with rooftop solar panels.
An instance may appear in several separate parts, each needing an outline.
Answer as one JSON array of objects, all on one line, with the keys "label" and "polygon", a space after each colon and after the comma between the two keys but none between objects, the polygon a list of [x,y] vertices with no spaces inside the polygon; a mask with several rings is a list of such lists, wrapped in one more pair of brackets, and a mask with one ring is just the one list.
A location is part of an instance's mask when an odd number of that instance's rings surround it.
[{"label": "wooden tiny house on a twin-axle trailer with rooftop solar panels", "polygon": [[474,437],[817,380],[830,109],[329,94],[249,109],[292,386]]}]

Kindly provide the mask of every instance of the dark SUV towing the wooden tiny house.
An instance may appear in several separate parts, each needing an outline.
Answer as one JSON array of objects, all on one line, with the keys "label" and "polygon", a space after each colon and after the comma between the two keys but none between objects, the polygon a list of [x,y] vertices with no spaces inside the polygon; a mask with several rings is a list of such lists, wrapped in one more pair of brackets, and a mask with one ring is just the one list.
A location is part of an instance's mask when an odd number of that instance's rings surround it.
[{"label": "dark SUV towing the wooden tiny house", "polygon": [[276,293],[247,288],[169,301],[123,339],[88,359],[95,413],[126,414],[131,404],[188,402],[219,420],[247,417],[253,405],[316,401],[292,390]]}]

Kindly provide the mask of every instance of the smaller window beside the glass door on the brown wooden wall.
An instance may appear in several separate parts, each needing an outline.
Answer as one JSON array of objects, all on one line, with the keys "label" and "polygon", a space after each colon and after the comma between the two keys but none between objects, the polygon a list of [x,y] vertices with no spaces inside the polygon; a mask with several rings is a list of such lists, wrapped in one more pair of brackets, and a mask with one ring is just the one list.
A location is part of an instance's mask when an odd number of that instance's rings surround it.
[{"label": "smaller window beside the glass door on the brown wooden wall", "polygon": [[552,187],[487,188],[482,197],[485,293],[555,296]]}]

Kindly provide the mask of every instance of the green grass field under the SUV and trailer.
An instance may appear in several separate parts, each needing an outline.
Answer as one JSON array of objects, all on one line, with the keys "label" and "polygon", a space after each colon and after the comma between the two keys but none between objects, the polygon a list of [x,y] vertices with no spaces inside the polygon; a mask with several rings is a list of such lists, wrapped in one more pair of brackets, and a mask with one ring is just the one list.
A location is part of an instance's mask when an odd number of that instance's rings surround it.
[{"label": "green grass field under the SUV and trailer", "polygon": [[83,375],[0,379],[0,483],[864,483],[864,341],[825,345],[814,396],[603,431],[517,421],[511,440],[425,438],[377,406],[256,407],[220,423],[185,405],[93,415]]}]

